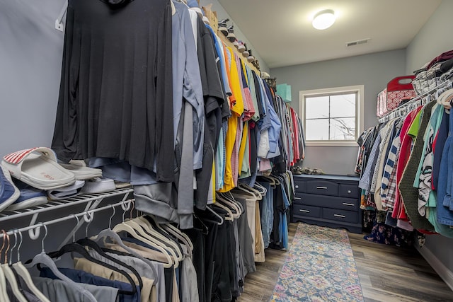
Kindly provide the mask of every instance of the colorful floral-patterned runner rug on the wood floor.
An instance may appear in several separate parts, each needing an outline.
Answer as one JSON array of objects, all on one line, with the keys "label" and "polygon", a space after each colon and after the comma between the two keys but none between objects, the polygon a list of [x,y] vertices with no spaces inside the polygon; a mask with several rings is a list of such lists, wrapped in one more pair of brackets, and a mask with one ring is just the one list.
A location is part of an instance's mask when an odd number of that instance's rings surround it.
[{"label": "colorful floral-patterned runner rug on the wood floor", "polygon": [[270,301],[363,301],[348,233],[299,223]]}]

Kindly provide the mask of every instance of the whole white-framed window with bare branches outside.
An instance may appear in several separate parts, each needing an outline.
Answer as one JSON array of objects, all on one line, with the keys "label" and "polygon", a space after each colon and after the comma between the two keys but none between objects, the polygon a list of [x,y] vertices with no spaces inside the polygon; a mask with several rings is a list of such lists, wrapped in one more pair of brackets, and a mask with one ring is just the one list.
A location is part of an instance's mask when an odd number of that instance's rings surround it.
[{"label": "whole white-framed window with bare branches outside", "polygon": [[364,86],[300,91],[307,146],[357,146],[363,131]]}]

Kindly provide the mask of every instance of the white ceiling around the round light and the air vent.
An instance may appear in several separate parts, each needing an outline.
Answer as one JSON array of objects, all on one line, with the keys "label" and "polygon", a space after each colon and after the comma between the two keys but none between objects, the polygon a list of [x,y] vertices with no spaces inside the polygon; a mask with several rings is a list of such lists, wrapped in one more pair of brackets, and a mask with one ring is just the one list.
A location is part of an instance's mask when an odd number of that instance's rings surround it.
[{"label": "white ceiling around the round light and the air vent", "polygon": [[[218,0],[270,68],[408,46],[442,0]],[[336,11],[327,30],[314,14]],[[241,37],[238,37],[239,40]],[[346,42],[369,38],[364,45]]]}]

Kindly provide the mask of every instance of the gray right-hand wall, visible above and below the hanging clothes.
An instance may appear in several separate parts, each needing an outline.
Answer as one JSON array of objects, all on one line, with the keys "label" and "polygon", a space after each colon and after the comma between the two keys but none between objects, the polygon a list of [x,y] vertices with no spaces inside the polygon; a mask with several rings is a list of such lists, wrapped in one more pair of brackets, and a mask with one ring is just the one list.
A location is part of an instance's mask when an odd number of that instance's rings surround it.
[{"label": "gray right-hand wall, visible above and below the hanging clothes", "polygon": [[[407,47],[406,71],[414,71],[442,52],[453,50],[453,1],[444,0]],[[425,249],[430,250],[453,273],[453,239],[427,236]],[[451,280],[453,281],[453,280]]]}]

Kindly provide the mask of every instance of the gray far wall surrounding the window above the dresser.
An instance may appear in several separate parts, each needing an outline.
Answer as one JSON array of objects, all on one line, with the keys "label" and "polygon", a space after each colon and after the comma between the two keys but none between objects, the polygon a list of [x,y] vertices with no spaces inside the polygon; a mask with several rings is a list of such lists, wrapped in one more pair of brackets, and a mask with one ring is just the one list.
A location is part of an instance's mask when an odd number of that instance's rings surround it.
[{"label": "gray far wall surrounding the window above the dresser", "polygon": [[[340,86],[365,86],[364,127],[377,123],[376,95],[395,76],[405,73],[405,52],[394,50],[344,59],[287,66],[270,70],[277,83],[291,85],[291,107],[299,112],[299,91]],[[307,146],[304,167],[331,174],[354,173],[358,147]]]}]

